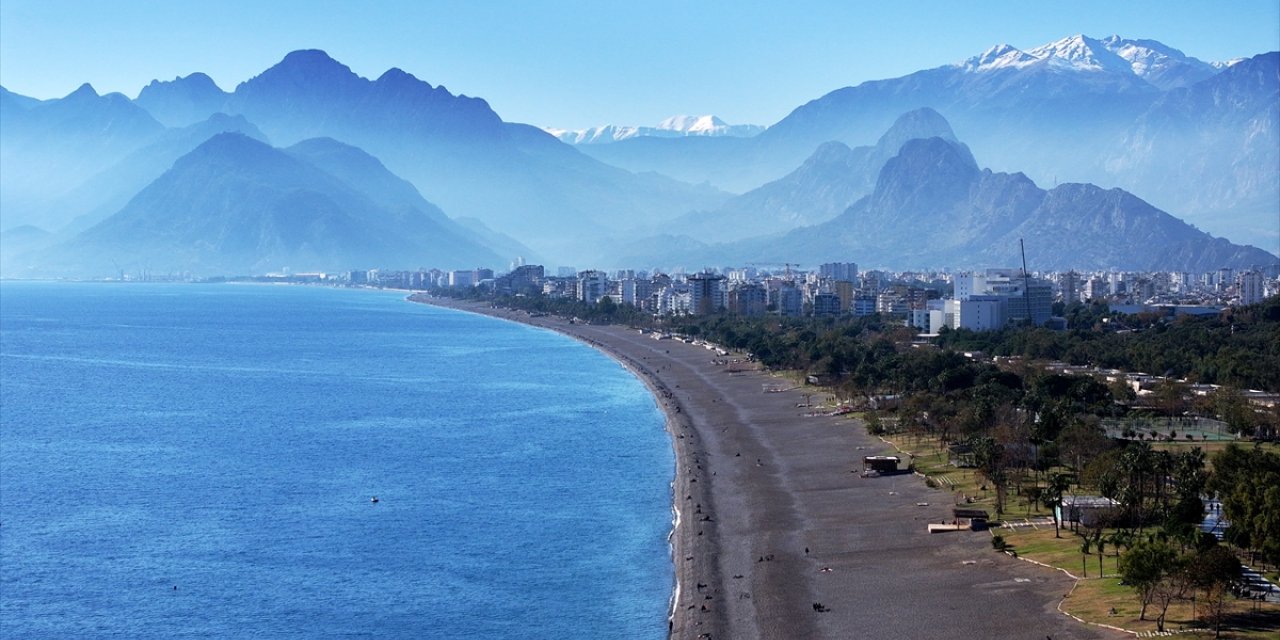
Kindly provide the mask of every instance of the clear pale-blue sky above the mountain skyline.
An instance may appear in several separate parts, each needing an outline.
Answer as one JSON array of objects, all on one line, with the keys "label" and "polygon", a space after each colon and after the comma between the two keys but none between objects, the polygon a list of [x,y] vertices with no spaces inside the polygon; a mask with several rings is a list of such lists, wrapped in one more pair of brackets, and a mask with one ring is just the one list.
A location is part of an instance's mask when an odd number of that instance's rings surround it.
[{"label": "clear pale-blue sky above the mountain skyline", "polygon": [[1280,50],[1280,0],[3,0],[0,84],[136,97],[204,72],[227,91],[297,49],[392,67],[539,127],[714,114],[773,124],[840,87],[1070,35],[1202,60]]}]

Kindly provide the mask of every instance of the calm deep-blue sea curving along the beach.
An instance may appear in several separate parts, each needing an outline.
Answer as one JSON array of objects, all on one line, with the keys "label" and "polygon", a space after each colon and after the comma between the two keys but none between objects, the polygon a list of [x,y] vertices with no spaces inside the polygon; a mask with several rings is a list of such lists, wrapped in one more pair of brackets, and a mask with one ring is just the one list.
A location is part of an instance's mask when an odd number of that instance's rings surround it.
[{"label": "calm deep-blue sea curving along the beach", "polygon": [[662,424],[402,293],[0,283],[0,635],[660,639]]}]

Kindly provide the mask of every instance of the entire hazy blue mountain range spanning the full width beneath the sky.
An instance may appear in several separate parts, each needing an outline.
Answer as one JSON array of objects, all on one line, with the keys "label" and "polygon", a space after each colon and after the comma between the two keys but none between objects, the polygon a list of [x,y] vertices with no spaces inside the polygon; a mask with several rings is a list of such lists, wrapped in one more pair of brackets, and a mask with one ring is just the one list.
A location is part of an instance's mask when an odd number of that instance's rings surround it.
[{"label": "entire hazy blue mountain range spanning the full width beneath the sky", "polygon": [[1042,269],[1198,270],[1280,248],[1277,52],[1074,36],[837,90],[754,136],[631,129],[557,140],[315,50],[229,92],[198,72],[136,100],[0,91],[0,269],[965,268],[1024,237]]}]

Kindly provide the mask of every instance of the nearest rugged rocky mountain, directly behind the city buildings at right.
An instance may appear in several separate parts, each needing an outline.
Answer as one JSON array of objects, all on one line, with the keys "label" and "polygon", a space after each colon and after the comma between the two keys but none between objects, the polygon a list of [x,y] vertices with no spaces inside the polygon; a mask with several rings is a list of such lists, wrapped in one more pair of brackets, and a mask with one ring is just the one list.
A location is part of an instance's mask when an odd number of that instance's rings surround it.
[{"label": "nearest rugged rocky mountain, directly behind the city buildings at right", "polygon": [[[1020,173],[979,169],[966,147],[913,140],[884,164],[874,191],[826,223],[704,247],[708,264],[856,260],[895,268],[1207,271],[1274,265],[1276,256],[1213,238],[1121,189],[1042,189]],[[652,256],[668,260],[671,256]]]}]

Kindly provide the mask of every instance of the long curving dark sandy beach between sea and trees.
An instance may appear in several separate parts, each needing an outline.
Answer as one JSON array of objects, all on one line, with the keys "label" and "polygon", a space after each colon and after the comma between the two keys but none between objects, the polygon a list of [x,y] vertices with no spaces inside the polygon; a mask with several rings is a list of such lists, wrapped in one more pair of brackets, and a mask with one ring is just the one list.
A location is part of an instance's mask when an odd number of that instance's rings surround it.
[{"label": "long curving dark sandy beach between sea and trees", "polygon": [[852,420],[806,416],[799,389],[765,393],[778,381],[767,372],[622,326],[428,302],[571,335],[653,390],[677,460],[671,637],[1128,637],[1060,613],[1071,580],[993,552],[988,534],[928,534],[951,518],[951,494],[861,477],[861,456],[883,443]]}]

